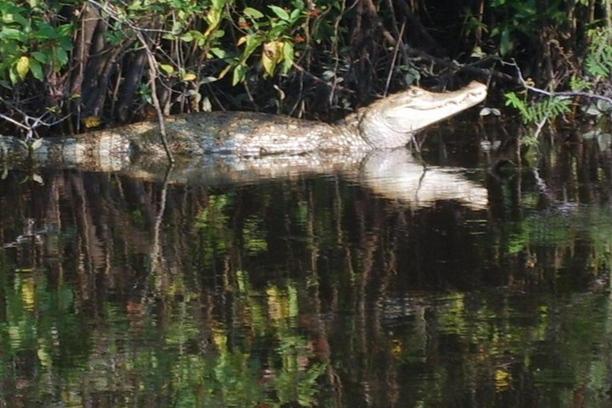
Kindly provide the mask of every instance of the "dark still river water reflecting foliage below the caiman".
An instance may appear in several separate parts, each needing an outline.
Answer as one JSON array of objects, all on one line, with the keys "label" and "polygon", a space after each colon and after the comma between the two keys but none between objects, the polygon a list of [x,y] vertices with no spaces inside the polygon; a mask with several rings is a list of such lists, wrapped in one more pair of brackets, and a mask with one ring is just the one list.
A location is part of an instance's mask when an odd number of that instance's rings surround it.
[{"label": "dark still river water reflecting foliage below the caiman", "polygon": [[610,406],[610,151],[493,174],[482,136],[434,136],[479,202],[9,172],[0,406]]}]

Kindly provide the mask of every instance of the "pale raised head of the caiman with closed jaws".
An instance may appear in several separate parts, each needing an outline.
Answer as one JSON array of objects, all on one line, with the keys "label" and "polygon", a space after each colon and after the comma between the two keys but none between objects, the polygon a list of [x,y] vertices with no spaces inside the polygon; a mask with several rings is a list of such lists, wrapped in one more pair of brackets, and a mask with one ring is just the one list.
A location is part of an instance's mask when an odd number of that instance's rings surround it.
[{"label": "pale raised head of the caiman with closed jaws", "polygon": [[404,146],[417,130],[470,108],[486,96],[487,86],[478,82],[444,93],[411,86],[368,106],[359,119],[359,132],[375,147]]}]

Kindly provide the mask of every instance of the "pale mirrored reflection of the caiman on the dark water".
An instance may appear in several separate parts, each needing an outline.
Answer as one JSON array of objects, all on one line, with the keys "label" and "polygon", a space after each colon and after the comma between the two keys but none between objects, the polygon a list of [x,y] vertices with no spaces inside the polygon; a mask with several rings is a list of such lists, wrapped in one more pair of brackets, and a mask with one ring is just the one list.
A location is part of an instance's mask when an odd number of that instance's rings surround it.
[{"label": "pale mirrored reflection of the caiman on the dark water", "polygon": [[[162,180],[165,166],[137,161],[119,174],[140,180]],[[465,177],[465,169],[418,163],[410,150],[379,149],[343,154],[268,155],[239,157],[206,155],[181,161],[170,173],[173,184],[250,184],[307,174],[339,174],[370,188],[376,195],[412,207],[453,200],[473,209],[487,206],[487,189]]]}]

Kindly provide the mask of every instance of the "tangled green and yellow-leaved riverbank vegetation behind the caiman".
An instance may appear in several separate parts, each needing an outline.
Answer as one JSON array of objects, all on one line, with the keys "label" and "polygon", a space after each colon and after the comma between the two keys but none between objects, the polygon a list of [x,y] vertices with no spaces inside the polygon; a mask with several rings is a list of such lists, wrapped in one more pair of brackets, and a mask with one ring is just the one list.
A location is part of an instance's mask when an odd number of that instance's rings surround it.
[{"label": "tangled green and yellow-leaved riverbank vegetation behind the caiman", "polygon": [[[570,97],[609,108],[611,32],[610,0],[0,0],[0,132],[209,109],[334,119],[468,78],[542,124]],[[534,105],[537,90],[574,93]]]}]

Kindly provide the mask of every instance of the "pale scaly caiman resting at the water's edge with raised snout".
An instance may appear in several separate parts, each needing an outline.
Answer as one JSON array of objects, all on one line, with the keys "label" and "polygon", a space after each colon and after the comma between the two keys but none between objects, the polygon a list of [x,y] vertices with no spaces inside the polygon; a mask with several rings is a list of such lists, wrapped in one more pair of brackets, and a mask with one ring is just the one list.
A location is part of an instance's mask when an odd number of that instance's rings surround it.
[{"label": "pale scaly caiman resting at the water's edge with raised snout", "polygon": [[[177,156],[353,154],[405,146],[417,131],[476,105],[486,95],[487,87],[477,82],[444,93],[412,86],[360,109],[345,124],[263,113],[212,112],[168,117],[165,128],[170,149]],[[155,121],[70,138],[44,138],[34,146],[34,159],[41,165],[112,170],[116,165],[125,167],[135,157],[166,157]],[[4,163],[18,165],[29,159],[31,149],[17,138],[4,136],[0,138],[0,151]]]}]

